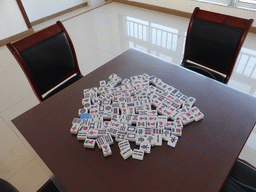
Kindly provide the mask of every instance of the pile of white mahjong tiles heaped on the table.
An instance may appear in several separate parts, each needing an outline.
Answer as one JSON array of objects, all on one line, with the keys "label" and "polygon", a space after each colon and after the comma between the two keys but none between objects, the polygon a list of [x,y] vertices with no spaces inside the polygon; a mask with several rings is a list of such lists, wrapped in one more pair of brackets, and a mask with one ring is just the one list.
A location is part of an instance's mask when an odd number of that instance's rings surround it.
[{"label": "pile of white mahjong tiles heaped on the table", "polygon": [[[162,141],[175,148],[183,126],[204,118],[194,106],[195,98],[182,94],[161,79],[147,74],[122,80],[111,74],[100,87],[84,90],[80,118],[72,122],[70,132],[84,140],[85,148],[97,143],[104,157],[112,154],[114,140],[124,159],[143,160]],[[136,142],[139,149],[131,149]]]}]

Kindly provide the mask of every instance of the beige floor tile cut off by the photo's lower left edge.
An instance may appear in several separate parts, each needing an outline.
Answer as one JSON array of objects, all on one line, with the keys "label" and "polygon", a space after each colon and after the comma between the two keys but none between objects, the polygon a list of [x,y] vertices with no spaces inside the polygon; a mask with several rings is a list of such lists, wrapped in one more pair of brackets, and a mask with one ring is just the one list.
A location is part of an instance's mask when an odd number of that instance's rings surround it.
[{"label": "beige floor tile cut off by the photo's lower left edge", "polygon": [[33,160],[22,141],[0,117],[0,178],[8,179]]}]

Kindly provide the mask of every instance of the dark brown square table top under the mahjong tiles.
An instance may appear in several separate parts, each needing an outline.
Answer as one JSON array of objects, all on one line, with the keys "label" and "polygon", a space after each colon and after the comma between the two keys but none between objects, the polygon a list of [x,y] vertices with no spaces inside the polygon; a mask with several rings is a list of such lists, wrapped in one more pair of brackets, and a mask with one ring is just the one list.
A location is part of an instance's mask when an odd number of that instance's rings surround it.
[{"label": "dark brown square table top under the mahjong tiles", "polygon": [[[205,115],[183,129],[175,149],[163,141],[143,161],[126,161],[117,143],[112,156],[85,149],[70,134],[82,108],[83,89],[99,87],[111,73],[122,79],[155,75],[196,98]],[[13,120],[68,191],[218,191],[249,137],[256,99],[177,65],[130,49]],[[131,143],[131,148],[138,148]]]}]

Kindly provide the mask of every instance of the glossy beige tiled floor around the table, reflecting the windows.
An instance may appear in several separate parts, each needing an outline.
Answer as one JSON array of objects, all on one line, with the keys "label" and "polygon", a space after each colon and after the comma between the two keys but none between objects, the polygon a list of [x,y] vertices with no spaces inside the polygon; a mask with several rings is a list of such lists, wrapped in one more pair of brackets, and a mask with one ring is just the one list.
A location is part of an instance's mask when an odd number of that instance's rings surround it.
[{"label": "glossy beige tiled floor around the table, reflecting the windows", "polygon": [[[56,20],[63,21],[74,43],[83,75],[131,47],[177,65],[181,62],[189,19],[119,3],[88,11],[90,8],[34,26],[38,31]],[[39,102],[6,47],[0,47],[0,69],[0,178],[8,180],[20,191],[35,191],[52,173],[11,120]],[[256,34],[247,36],[228,85],[256,96]],[[256,129],[240,157],[256,166]]]}]

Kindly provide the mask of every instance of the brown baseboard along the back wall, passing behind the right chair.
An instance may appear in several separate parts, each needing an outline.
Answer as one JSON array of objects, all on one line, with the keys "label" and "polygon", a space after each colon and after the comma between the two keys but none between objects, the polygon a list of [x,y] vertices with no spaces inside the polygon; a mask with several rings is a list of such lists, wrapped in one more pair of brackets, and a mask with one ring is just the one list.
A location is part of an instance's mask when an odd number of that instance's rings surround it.
[{"label": "brown baseboard along the back wall, passing behind the right chair", "polygon": [[[191,15],[192,15],[192,13],[188,13],[188,12],[184,12],[184,11],[178,11],[175,9],[160,7],[160,6],[156,6],[156,5],[149,5],[149,4],[139,3],[139,2],[129,1],[129,0],[112,0],[112,2],[123,3],[123,4],[127,4],[127,5],[132,5],[132,6],[145,8],[145,9],[149,9],[149,10],[153,10],[153,11],[159,11],[162,13],[168,13],[171,15],[176,15],[176,16],[185,17],[185,18],[191,18]],[[256,27],[251,27],[249,32],[256,34]]]}]

